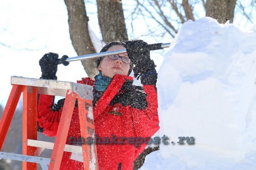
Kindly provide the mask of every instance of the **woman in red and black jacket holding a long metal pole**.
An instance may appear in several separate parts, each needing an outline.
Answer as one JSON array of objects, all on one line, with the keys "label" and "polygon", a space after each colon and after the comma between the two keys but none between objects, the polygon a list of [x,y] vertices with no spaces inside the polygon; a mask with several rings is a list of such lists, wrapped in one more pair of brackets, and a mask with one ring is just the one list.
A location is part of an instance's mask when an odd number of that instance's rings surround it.
[{"label": "woman in red and black jacket holding a long metal pole", "polygon": [[[94,86],[95,134],[112,142],[102,144],[98,141],[96,145],[99,170],[132,170],[133,162],[147,145],[142,139],[151,140],[149,137],[159,129],[157,73],[147,43],[142,40],[114,41],[105,45],[101,52],[124,48],[127,50],[125,54],[98,59],[99,74],[95,76],[95,81],[90,78],[78,81]],[[57,79],[57,59],[58,54],[54,53],[45,54],[40,59],[41,78]],[[132,69],[135,77],[141,79],[143,87],[133,85],[133,78],[128,76]],[[54,104],[54,96],[40,95],[38,125],[45,135],[56,135],[64,100]],[[78,108],[75,106],[67,144],[69,137],[80,136]],[[82,169],[83,164],[70,159],[70,156],[70,152],[64,152],[61,170]]]}]

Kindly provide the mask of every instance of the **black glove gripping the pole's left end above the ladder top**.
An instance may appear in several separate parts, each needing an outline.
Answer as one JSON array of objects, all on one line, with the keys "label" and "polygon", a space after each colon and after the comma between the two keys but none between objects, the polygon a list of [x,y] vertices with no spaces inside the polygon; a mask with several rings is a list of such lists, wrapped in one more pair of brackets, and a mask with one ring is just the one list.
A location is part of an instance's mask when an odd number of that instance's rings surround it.
[{"label": "black glove gripping the pole's left end above the ladder top", "polygon": [[47,53],[40,60],[39,65],[41,67],[42,79],[57,80],[56,72],[58,69],[58,57],[56,53]]}]

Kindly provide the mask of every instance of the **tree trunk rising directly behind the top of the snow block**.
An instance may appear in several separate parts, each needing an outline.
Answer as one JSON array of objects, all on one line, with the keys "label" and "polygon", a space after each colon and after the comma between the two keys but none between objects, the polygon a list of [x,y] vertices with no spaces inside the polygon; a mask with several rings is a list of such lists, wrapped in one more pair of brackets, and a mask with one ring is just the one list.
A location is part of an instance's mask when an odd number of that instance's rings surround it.
[{"label": "tree trunk rising directly behind the top of the snow block", "polygon": [[226,23],[228,20],[233,23],[236,0],[207,0],[206,16],[217,19],[219,23]]}]

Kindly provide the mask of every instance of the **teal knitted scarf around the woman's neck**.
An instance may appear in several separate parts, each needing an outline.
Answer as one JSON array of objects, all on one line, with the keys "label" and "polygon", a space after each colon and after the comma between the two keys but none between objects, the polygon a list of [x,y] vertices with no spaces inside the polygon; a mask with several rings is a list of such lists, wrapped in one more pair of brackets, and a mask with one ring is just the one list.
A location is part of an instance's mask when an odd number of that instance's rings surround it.
[{"label": "teal knitted scarf around the woman's neck", "polygon": [[100,92],[104,92],[106,88],[108,88],[108,85],[112,80],[112,78],[102,76],[101,73],[97,74],[94,77],[94,79],[95,79],[94,88]]}]

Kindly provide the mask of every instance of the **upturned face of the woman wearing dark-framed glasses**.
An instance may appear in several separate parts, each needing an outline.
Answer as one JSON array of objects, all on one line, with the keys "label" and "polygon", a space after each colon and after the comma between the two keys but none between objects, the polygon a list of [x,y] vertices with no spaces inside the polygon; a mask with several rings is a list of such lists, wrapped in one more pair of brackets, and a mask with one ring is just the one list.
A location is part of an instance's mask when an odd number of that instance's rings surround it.
[{"label": "upturned face of the woman wearing dark-framed glasses", "polygon": [[[107,51],[121,50],[125,49],[122,45],[113,45]],[[127,53],[120,54],[120,56],[128,57]],[[98,70],[101,71],[102,76],[107,76],[113,78],[116,74],[118,75],[128,75],[130,69],[130,64],[123,63],[119,57],[117,60],[104,57],[101,60],[101,63],[98,67]]]}]

